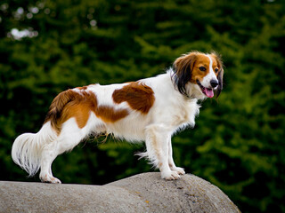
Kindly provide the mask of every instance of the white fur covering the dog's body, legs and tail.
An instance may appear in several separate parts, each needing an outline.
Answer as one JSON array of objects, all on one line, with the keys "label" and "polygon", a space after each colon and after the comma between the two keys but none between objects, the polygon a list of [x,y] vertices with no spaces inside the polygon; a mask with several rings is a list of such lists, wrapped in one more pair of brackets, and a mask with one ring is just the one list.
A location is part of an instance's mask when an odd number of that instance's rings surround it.
[{"label": "white fur covering the dog's body, legs and tail", "polygon": [[[186,90],[191,99],[185,97],[175,90],[171,75],[173,71],[170,69],[166,74],[140,81],[151,87],[155,96],[154,104],[148,114],[133,110],[126,102],[121,104],[113,102],[113,91],[122,88],[126,83],[89,85],[87,91],[94,92],[98,105],[127,109],[129,114],[118,122],[107,123],[96,117],[94,113],[90,113],[89,120],[82,129],[77,126],[74,118],[70,118],[63,123],[59,136],[52,129],[51,123],[46,122],[37,134],[28,133],[16,138],[12,146],[13,161],[30,176],[40,168],[42,181],[61,183],[59,179],[53,177],[51,170],[56,156],[71,150],[90,134],[107,132],[116,138],[125,138],[128,141],[145,141],[146,152],[140,156],[147,157],[155,167],[158,167],[162,178],[179,178],[184,174],[184,170],[175,166],[171,137],[178,130],[194,126],[195,116],[199,114],[197,100],[205,99],[205,95],[198,85],[187,83]],[[81,92],[77,89],[74,91]]]}]

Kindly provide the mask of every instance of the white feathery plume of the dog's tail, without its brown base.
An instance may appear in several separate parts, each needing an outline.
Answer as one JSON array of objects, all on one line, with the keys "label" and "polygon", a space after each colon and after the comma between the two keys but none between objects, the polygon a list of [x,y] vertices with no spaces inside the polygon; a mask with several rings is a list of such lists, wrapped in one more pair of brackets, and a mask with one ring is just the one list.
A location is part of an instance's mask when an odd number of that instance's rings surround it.
[{"label": "white feathery plume of the dog's tail, without its brown base", "polygon": [[40,168],[42,147],[56,138],[51,122],[45,122],[37,133],[20,135],[12,145],[13,162],[26,170],[29,177],[34,176]]}]

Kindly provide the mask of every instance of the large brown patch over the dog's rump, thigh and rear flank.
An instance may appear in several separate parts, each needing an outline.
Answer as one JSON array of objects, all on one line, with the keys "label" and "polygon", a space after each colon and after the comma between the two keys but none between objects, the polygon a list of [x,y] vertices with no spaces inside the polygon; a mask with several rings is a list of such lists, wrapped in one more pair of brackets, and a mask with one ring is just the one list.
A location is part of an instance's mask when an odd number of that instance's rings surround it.
[{"label": "large brown patch over the dog's rump, thigh and rear flank", "polygon": [[115,110],[111,106],[98,106],[97,98],[92,91],[82,89],[78,93],[68,90],[61,92],[53,99],[45,122],[50,121],[53,129],[56,130],[57,134],[60,134],[62,123],[71,117],[76,119],[79,128],[84,128],[90,112],[94,112],[104,122],[117,122],[128,114],[126,109]]}]

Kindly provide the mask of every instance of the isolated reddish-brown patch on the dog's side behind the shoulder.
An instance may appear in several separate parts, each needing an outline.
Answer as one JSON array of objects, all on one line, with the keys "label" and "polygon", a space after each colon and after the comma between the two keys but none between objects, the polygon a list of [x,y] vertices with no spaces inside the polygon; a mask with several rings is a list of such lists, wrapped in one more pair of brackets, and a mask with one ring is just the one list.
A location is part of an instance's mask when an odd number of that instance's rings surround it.
[{"label": "isolated reddish-brown patch on the dog's side behind the shoulder", "polygon": [[151,87],[143,83],[129,83],[122,89],[113,92],[113,100],[120,104],[124,101],[134,110],[147,114],[154,103],[154,93]]}]

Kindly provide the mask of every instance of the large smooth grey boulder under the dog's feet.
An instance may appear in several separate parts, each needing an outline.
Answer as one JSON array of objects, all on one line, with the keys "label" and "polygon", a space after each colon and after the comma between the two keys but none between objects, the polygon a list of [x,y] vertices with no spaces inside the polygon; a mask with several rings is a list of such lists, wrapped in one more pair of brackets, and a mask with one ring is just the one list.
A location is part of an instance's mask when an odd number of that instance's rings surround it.
[{"label": "large smooth grey boulder under the dog's feet", "polygon": [[215,185],[193,176],[143,173],[108,185],[0,181],[0,212],[240,212]]}]

